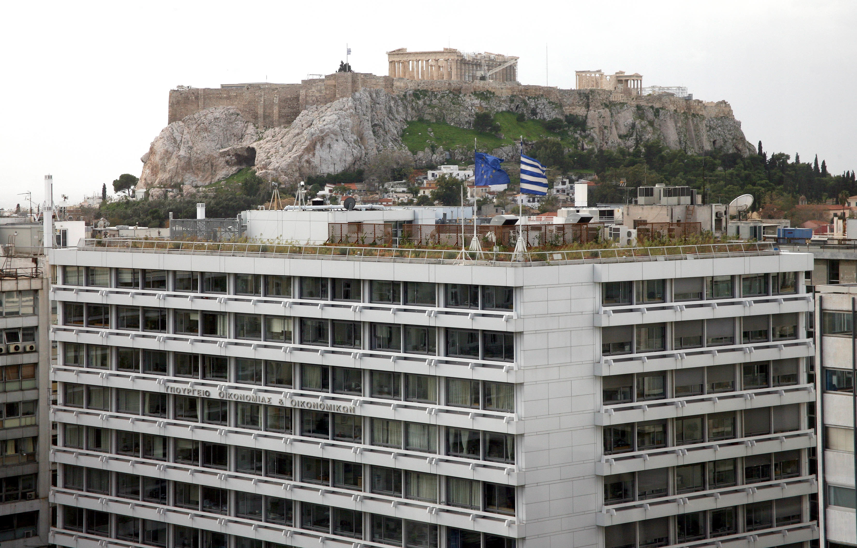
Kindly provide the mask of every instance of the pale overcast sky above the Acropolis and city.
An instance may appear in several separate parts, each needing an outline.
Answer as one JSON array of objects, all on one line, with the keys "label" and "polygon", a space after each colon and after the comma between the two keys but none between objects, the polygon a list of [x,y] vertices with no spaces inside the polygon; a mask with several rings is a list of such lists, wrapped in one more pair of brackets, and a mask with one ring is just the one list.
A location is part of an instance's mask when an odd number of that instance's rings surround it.
[{"label": "pale overcast sky above the Acropolis and city", "polygon": [[[451,46],[520,57],[524,84],[574,87],[574,71],[643,75],[727,100],[769,154],[857,169],[857,2],[19,2],[0,34],[0,207],[79,202],[139,177],[177,85],[299,82],[351,47],[357,72],[386,51]],[[524,24],[525,23],[525,24]]]}]

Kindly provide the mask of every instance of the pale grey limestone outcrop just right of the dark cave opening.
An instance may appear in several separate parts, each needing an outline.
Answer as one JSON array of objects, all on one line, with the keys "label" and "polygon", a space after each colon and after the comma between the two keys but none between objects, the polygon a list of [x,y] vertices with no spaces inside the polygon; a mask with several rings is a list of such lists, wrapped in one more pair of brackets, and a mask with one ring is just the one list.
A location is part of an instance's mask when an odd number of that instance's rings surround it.
[{"label": "pale grey limestone outcrop just right of the dark cave opening", "polygon": [[402,102],[381,89],[309,107],[291,125],[268,129],[254,143],[256,172],[294,183],[366,166],[384,148],[402,147],[408,119]]}]

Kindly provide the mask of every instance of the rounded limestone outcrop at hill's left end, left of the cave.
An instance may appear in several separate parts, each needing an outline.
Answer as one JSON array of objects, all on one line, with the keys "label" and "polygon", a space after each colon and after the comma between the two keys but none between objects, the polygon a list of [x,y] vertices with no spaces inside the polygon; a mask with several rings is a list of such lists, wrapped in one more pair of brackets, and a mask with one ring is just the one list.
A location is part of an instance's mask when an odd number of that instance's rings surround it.
[{"label": "rounded limestone outcrop at hill's left end, left of the cave", "polygon": [[143,154],[138,189],[199,187],[255,162],[259,131],[230,106],[207,108],[173,122]]}]

